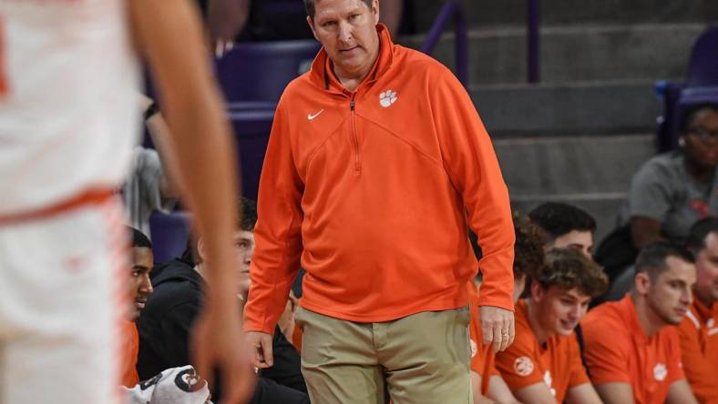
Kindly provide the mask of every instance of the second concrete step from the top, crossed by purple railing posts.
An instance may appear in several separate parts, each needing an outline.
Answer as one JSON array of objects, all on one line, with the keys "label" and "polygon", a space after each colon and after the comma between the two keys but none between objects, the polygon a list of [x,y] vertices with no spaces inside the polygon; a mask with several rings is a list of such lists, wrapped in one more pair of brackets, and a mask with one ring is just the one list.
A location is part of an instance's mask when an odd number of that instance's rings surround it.
[{"label": "second concrete step from the top, crossed by purple railing posts", "polygon": [[[718,2],[715,2],[718,4]],[[680,79],[695,39],[708,25],[566,25],[540,31],[543,82],[612,79]],[[399,38],[419,48],[425,35]],[[527,80],[524,27],[469,31],[469,83],[473,86]],[[454,68],[453,32],[443,35],[433,55]]]}]

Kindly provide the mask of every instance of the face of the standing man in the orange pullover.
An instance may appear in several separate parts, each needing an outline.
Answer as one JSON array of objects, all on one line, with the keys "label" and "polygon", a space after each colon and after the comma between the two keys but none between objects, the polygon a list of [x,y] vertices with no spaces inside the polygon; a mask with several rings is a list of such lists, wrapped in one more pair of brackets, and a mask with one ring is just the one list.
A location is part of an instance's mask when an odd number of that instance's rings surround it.
[{"label": "face of the standing man in the orange pullover", "polygon": [[314,37],[326,50],[338,76],[363,76],[378,54],[379,4],[362,0],[317,0],[314,17],[307,17]]}]

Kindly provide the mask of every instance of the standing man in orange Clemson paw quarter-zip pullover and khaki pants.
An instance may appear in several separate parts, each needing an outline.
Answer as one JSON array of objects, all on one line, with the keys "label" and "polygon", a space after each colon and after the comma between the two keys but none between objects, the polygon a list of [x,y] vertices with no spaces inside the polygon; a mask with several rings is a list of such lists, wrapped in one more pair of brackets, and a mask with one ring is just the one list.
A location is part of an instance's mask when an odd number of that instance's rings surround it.
[{"label": "standing man in orange Clemson paw quarter-zip pullover and khaki pants", "polygon": [[[313,403],[467,402],[467,282],[484,343],[513,339],[508,189],[466,90],[394,45],[378,0],[305,0],[323,49],[277,106],[245,308],[255,366],[300,265]],[[477,263],[467,228],[478,236]]]}]

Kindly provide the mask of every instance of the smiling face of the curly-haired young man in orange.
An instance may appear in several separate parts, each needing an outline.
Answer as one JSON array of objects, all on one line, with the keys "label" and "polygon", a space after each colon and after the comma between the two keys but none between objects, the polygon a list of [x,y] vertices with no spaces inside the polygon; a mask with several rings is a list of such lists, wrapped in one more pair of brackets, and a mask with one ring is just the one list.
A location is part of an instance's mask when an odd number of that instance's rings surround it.
[{"label": "smiling face of the curly-haired young man in orange", "polygon": [[570,335],[586,315],[590,302],[590,297],[578,288],[566,289],[556,285],[543,288],[538,282],[531,285],[531,298],[541,327],[557,335]]}]

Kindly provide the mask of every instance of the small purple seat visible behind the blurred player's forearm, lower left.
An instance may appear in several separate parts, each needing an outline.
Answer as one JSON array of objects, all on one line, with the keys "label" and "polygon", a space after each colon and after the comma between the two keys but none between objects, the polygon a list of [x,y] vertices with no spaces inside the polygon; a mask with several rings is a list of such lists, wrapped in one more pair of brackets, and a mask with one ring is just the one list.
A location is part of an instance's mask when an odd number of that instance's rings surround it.
[{"label": "small purple seat visible behind the blurred player's forearm, lower left", "polygon": [[190,237],[190,214],[172,212],[169,215],[154,212],[149,217],[152,234],[152,252],[155,262],[164,263],[182,255]]}]

